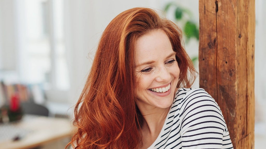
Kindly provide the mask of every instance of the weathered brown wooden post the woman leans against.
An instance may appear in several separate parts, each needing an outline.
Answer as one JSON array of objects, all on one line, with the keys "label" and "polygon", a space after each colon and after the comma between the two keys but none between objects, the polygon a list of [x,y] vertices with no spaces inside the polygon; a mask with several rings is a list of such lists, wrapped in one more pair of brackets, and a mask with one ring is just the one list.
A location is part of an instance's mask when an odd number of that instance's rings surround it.
[{"label": "weathered brown wooden post the woman leans against", "polygon": [[234,148],[254,148],[255,0],[201,0],[200,87],[219,104]]}]

